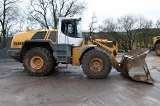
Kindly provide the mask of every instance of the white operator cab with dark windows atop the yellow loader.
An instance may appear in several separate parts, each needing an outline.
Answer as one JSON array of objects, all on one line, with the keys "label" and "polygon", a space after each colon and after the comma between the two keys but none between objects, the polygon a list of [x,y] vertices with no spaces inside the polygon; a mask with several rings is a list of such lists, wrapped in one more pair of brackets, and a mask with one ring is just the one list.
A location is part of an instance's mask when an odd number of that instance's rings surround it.
[{"label": "white operator cab with dark windows atop the yellow loader", "polygon": [[59,18],[58,44],[80,46],[83,41],[80,18]]}]

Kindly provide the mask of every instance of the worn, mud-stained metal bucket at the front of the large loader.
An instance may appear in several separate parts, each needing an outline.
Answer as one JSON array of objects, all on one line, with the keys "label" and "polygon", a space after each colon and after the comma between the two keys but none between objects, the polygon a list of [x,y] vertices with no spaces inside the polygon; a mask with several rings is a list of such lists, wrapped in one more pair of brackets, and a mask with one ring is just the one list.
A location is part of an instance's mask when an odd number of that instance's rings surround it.
[{"label": "worn, mud-stained metal bucket at the front of the large loader", "polygon": [[145,62],[148,52],[148,49],[135,49],[123,55],[120,62],[122,75],[135,81],[153,83],[154,80]]}]

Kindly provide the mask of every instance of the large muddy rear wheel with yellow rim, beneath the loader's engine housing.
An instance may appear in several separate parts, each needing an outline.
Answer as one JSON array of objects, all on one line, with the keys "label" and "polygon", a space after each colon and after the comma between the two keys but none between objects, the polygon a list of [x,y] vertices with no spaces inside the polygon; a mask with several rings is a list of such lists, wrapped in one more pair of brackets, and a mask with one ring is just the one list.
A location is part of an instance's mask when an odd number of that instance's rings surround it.
[{"label": "large muddy rear wheel with yellow rim, beneath the loader's engine housing", "polygon": [[53,56],[47,49],[35,47],[25,54],[23,66],[29,75],[43,76],[53,69]]}]

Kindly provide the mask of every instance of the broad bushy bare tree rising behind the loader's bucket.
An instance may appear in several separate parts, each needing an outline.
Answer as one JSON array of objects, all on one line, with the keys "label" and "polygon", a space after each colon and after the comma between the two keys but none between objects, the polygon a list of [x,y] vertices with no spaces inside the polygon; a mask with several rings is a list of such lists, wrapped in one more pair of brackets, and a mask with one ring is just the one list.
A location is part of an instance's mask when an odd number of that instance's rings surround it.
[{"label": "broad bushy bare tree rising behind the loader's bucket", "polygon": [[117,19],[106,19],[104,31],[115,38],[125,51],[134,47],[148,48],[153,37],[153,22],[144,17],[125,15]]}]

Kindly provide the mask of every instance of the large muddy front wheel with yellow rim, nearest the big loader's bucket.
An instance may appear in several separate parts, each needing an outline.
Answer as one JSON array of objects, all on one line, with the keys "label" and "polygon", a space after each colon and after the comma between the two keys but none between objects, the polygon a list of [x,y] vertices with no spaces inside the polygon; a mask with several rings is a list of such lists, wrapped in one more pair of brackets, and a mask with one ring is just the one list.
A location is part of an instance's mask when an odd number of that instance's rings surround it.
[{"label": "large muddy front wheel with yellow rim, nearest the big loader's bucket", "polygon": [[82,69],[89,78],[106,78],[112,69],[111,59],[101,50],[91,50],[83,57]]}]

